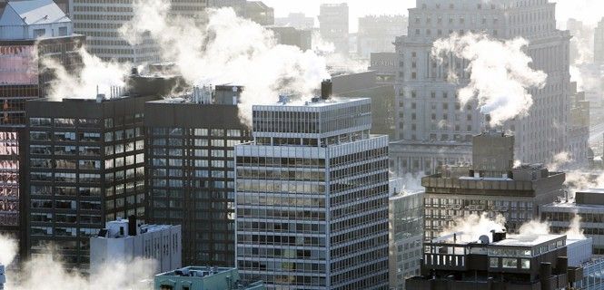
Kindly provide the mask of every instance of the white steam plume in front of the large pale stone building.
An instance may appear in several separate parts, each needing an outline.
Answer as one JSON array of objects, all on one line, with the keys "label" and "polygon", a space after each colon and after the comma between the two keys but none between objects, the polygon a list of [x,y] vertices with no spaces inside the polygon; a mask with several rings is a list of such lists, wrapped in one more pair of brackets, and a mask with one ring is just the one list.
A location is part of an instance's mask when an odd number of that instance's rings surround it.
[{"label": "white steam plume in front of the large pale stone building", "polygon": [[526,116],[533,104],[527,90],[545,85],[547,74],[532,70],[532,59],[522,51],[527,44],[522,38],[500,42],[486,34],[451,34],[434,42],[432,56],[440,63],[449,55],[470,61],[470,82],[459,90],[460,102],[477,98],[480,112],[490,114],[490,125],[499,126]]}]

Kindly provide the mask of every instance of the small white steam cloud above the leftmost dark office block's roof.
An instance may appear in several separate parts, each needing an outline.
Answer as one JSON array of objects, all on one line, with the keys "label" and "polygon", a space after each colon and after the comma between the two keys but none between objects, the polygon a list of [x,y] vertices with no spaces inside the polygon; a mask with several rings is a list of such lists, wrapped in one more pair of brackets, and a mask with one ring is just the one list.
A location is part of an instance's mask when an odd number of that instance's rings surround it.
[{"label": "small white steam cloud above the leftmost dark office block's roof", "polygon": [[54,73],[54,80],[48,89],[48,97],[54,100],[64,98],[96,98],[96,92],[106,97],[112,87],[124,87],[125,77],[130,71],[127,64],[107,63],[86,52],[84,47],[78,51],[83,67],[76,73],[67,72],[61,63],[52,58],[43,58],[42,65]]}]

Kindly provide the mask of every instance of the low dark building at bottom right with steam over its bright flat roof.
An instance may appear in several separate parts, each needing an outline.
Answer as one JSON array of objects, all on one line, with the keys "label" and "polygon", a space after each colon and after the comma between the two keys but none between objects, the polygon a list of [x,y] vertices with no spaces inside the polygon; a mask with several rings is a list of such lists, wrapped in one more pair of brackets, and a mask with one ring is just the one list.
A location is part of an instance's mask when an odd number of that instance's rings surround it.
[{"label": "low dark building at bottom right with steam over its bright flat roof", "polygon": [[590,239],[496,230],[480,237],[458,232],[424,243],[421,276],[407,279],[407,289],[563,290],[583,278]]}]

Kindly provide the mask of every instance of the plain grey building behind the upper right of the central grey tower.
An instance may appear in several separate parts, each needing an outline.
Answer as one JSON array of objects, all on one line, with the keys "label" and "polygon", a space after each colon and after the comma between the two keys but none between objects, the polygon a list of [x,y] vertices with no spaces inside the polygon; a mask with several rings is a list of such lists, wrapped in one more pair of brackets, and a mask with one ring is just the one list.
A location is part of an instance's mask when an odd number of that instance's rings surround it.
[{"label": "plain grey building behind the upper right of the central grey tower", "polygon": [[371,99],[371,131],[394,138],[394,87],[377,83],[376,72],[342,73],[332,76],[333,95]]}]

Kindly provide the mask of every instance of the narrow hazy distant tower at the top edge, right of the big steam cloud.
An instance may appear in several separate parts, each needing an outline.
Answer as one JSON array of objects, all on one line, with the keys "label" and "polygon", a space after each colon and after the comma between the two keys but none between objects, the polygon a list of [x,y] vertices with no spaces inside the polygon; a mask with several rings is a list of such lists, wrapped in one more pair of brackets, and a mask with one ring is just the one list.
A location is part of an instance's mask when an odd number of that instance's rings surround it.
[{"label": "narrow hazy distant tower at the top edge, right of the big steam cloud", "polygon": [[324,41],[333,43],[335,52],[348,55],[348,4],[322,4],[319,12],[319,31]]}]

